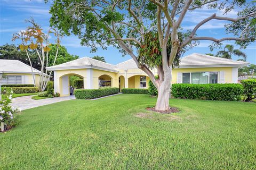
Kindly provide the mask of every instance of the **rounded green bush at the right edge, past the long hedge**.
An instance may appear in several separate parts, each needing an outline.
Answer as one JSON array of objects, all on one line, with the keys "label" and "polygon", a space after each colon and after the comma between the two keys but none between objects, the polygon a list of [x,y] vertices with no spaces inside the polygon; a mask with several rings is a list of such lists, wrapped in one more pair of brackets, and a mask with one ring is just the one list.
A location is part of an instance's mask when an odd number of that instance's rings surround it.
[{"label": "rounded green bush at the right edge, past the long hedge", "polygon": [[251,101],[256,98],[256,79],[241,80],[244,87],[245,101]]}]

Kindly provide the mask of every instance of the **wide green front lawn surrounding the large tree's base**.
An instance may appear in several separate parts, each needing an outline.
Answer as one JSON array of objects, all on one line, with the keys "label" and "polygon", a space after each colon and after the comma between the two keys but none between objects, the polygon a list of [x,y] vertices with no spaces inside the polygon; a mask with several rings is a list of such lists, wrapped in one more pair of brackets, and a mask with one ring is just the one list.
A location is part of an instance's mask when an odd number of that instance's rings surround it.
[{"label": "wide green front lawn surrounding the large tree's base", "polygon": [[255,103],[171,99],[181,112],[146,112],[155,102],[127,94],[23,111],[0,134],[1,168],[255,169]]}]

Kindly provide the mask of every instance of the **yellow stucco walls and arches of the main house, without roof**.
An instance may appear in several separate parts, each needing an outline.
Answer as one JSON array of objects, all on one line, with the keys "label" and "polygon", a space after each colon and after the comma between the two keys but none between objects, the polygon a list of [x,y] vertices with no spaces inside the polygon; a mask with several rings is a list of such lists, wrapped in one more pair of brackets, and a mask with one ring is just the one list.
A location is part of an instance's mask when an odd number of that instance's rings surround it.
[{"label": "yellow stucco walls and arches of the main house, without roof", "polygon": [[[218,72],[218,83],[232,83],[233,67],[204,67],[204,68],[186,68],[173,69],[172,83],[177,83],[179,75],[189,72]],[[220,82],[220,73],[223,73]],[[157,75],[157,72],[153,70]],[[69,77],[70,75],[78,75],[84,80],[84,89],[98,89],[99,78],[101,80],[111,80],[111,87],[120,88],[148,88],[149,77],[140,69],[117,69],[116,72],[99,70],[99,69],[73,69],[73,70],[56,70],[54,71],[54,91],[59,92],[60,96],[69,96]],[[146,76],[146,87],[141,87],[140,77]],[[179,83],[179,82],[178,82]],[[65,92],[66,90],[66,92]]]}]

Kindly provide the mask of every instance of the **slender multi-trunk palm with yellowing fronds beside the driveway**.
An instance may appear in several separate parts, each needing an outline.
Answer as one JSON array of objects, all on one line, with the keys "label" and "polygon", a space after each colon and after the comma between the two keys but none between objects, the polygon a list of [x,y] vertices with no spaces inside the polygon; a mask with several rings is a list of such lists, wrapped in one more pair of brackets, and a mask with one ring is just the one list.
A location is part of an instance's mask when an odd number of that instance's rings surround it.
[{"label": "slender multi-trunk palm with yellowing fronds beside the driveway", "polygon": [[28,20],[28,22],[31,25],[25,31],[20,31],[18,33],[15,33],[13,35],[12,40],[18,40],[18,39],[21,40],[21,44],[19,45],[19,48],[21,50],[24,50],[27,54],[30,67],[31,67],[31,73],[33,75],[34,84],[35,84],[34,70],[32,67],[32,63],[31,63],[31,59],[28,51],[29,50],[36,51],[39,57],[39,61],[41,63],[39,91],[44,91],[52,74],[52,71],[48,72],[47,69],[44,69],[44,67],[49,66],[49,62],[50,62],[49,52],[51,50],[50,48],[51,44],[49,41],[49,37],[50,37],[50,34],[52,34],[56,38],[55,43],[57,45],[57,50],[56,50],[54,61],[52,64],[52,65],[55,65],[55,62],[58,56],[59,44],[60,44],[60,34],[54,28],[50,28],[47,31],[47,33],[44,33],[41,26],[35,23],[34,19]]}]

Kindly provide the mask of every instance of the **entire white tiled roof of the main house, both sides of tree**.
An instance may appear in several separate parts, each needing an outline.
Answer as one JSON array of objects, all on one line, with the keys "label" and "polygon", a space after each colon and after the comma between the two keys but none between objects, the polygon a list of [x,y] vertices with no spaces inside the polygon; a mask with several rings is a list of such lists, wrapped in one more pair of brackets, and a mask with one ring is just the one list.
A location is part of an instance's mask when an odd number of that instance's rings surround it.
[{"label": "entire white tiled roof of the main house, both sides of tree", "polygon": [[[242,67],[246,66],[247,62],[228,60],[226,58],[214,57],[205,54],[193,53],[181,58],[179,68],[194,68],[194,67]],[[93,68],[110,72],[118,72],[116,69],[138,69],[138,66],[133,59],[113,65],[93,58],[83,57],[67,63],[47,67],[48,70],[69,70],[69,69],[86,69]]]}]

